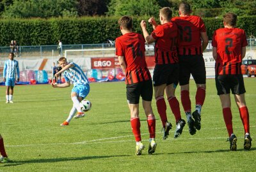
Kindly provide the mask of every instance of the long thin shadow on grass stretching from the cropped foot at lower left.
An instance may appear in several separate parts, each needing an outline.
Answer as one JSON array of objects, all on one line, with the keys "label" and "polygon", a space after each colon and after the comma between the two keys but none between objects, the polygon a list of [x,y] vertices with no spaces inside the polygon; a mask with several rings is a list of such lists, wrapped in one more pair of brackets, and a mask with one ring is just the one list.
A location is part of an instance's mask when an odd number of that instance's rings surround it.
[{"label": "long thin shadow on grass stretching from the cropped foot at lower left", "polygon": [[70,157],[70,158],[52,158],[52,159],[31,159],[24,161],[11,161],[8,164],[4,164],[4,167],[7,166],[19,166],[22,164],[31,164],[31,163],[49,163],[49,162],[67,162],[67,161],[81,161],[89,159],[103,159],[111,157],[129,157],[130,155],[105,155],[105,156],[86,156],[86,157]]}]

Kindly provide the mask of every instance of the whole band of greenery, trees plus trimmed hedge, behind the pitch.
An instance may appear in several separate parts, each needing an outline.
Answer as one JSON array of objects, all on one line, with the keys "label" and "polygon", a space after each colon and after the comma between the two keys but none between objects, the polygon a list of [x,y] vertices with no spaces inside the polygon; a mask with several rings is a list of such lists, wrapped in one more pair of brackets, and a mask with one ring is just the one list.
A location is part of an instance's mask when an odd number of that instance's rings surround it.
[{"label": "whole band of greenery, trees plus trimmed hedge, behind the pitch", "polygon": [[[250,0],[187,0],[193,15],[205,21],[207,34],[223,27],[221,16],[237,13],[237,27],[248,35],[256,35],[256,1]],[[120,36],[117,20],[132,16],[134,31],[141,32],[140,20],[158,18],[159,8],[170,6],[178,16],[180,0],[3,0],[0,1],[0,45],[8,46],[15,39],[19,45],[53,45],[103,43]],[[150,27],[151,29],[151,27]],[[148,31],[152,31],[148,29]]]}]

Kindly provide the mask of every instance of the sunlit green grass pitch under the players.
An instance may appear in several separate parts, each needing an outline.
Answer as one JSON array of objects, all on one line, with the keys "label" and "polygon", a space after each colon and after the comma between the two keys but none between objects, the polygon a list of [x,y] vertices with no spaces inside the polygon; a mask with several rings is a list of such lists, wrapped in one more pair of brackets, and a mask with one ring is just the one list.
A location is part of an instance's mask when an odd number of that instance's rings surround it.
[{"label": "sunlit green grass pitch under the players", "polygon": [[[0,87],[0,133],[11,163],[0,164],[0,171],[255,171],[256,169],[256,78],[244,78],[246,103],[250,112],[252,149],[243,149],[243,124],[232,96],[233,127],[237,152],[229,151],[220,99],[214,79],[207,79],[207,93],[202,108],[202,129],[191,136],[188,125],[180,138],[173,139],[175,122],[168,106],[168,120],[173,124],[170,136],[162,140],[161,120],[156,115],[157,149],[147,154],[147,121],[140,106],[141,134],[146,146],[135,155],[124,82],[91,83],[86,99],[92,110],[86,117],[72,119],[61,127],[70,111],[70,90],[50,85],[17,85],[13,104],[5,104],[5,87]],[[190,97],[195,110],[195,83],[191,80]],[[180,89],[177,87],[180,101]],[[180,103],[182,117],[184,110]]]}]

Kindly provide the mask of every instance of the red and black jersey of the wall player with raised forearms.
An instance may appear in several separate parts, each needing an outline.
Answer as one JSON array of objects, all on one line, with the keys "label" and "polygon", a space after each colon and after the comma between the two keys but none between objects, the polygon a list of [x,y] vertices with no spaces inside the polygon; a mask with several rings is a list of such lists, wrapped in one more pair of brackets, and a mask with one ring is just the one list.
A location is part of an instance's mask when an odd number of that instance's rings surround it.
[{"label": "red and black jersey of the wall player with raised forearms", "polygon": [[179,62],[177,55],[177,25],[168,22],[163,25],[157,25],[151,33],[156,39],[155,44],[155,62],[156,64],[173,64]]}]

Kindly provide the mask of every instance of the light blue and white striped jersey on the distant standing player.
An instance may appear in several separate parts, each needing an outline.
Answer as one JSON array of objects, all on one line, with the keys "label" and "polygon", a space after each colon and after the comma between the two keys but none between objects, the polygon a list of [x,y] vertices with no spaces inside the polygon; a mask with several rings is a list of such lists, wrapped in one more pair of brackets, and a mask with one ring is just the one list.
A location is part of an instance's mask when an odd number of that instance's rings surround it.
[{"label": "light blue and white striped jersey on the distant standing player", "polygon": [[4,62],[4,71],[3,71],[4,78],[16,78],[16,71],[17,71],[17,78],[20,78],[18,61],[15,61],[15,60],[11,61],[9,59]]}]

